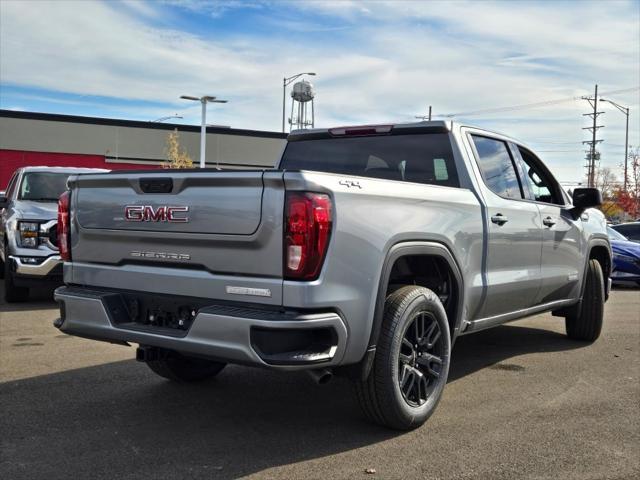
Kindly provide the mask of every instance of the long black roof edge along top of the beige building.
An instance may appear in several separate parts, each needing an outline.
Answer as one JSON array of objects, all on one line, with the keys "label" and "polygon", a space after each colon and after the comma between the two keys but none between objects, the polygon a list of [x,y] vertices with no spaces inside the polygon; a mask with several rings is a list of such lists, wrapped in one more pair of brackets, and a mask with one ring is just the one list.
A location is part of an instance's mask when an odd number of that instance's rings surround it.
[{"label": "long black roof edge along top of the beige building", "polygon": [[[0,118],[17,118],[21,120],[43,120],[48,122],[78,123],[83,125],[105,125],[112,127],[148,128],[153,130],[175,130],[179,132],[200,132],[198,125],[184,125],[177,123],[145,122],[140,120],[123,120],[118,118],[85,117],[80,115],[61,115],[58,113],[22,112],[0,109]],[[246,130],[241,128],[207,127],[207,133],[221,135],[239,135],[244,137],[279,138],[286,139],[287,135],[280,132],[262,130]]]}]

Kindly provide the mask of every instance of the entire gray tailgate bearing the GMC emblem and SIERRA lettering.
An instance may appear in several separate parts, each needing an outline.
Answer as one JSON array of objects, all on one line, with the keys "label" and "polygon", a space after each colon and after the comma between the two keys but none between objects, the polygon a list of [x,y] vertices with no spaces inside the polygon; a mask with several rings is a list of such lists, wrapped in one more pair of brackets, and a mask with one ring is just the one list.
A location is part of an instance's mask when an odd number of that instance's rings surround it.
[{"label": "entire gray tailgate bearing the GMC emblem and SIERRA lettering", "polygon": [[[270,285],[262,301],[279,298],[282,172],[122,172],[72,177],[69,186],[66,281],[228,298],[227,287],[259,289],[262,278]],[[197,283],[183,281],[188,272]]]}]

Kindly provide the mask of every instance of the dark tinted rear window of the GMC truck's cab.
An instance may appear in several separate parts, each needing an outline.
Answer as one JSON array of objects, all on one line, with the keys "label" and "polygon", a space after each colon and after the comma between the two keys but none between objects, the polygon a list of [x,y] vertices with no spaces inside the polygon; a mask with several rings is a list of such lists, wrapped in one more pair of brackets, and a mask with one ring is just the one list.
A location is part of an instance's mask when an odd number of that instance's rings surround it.
[{"label": "dark tinted rear window of the GMC truck's cab", "polygon": [[280,168],[460,186],[446,133],[298,140],[287,145]]}]

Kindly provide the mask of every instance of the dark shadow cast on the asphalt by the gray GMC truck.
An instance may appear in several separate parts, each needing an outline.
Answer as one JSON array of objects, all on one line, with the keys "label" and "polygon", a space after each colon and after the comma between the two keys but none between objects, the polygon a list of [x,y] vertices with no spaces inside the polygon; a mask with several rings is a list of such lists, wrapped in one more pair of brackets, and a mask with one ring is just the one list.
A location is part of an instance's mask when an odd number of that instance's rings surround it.
[{"label": "dark shadow cast on the asphalt by the gray GMC truck", "polygon": [[[458,341],[450,381],[582,346],[497,327]],[[445,390],[436,415],[446,405]],[[178,385],[133,360],[109,363],[0,384],[0,407],[4,478],[237,478],[402,435],[368,424],[345,379],[319,387],[304,373],[237,366]]]}]

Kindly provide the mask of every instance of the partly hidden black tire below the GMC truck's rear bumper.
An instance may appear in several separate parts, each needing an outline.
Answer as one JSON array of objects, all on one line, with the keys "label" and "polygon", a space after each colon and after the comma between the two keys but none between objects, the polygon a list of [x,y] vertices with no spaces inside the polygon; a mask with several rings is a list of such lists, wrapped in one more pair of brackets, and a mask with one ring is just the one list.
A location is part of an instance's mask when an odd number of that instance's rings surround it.
[{"label": "partly hidden black tire below the GMC truck's rear bumper", "polygon": [[157,375],[174,382],[201,382],[215,377],[226,363],[188,357],[178,352],[167,352],[165,358],[146,362]]}]

